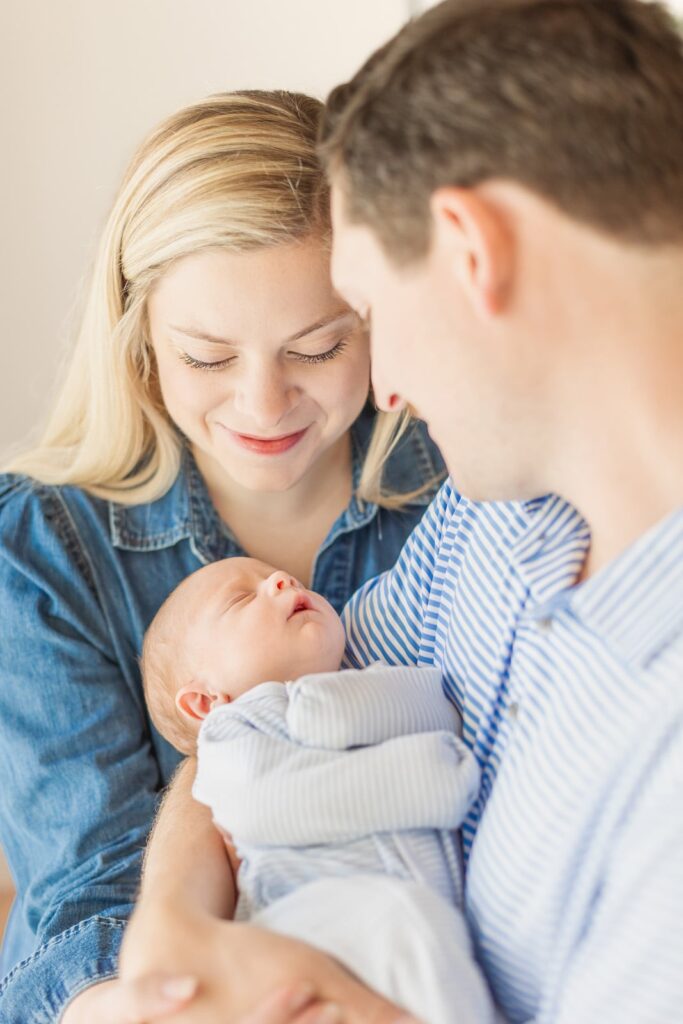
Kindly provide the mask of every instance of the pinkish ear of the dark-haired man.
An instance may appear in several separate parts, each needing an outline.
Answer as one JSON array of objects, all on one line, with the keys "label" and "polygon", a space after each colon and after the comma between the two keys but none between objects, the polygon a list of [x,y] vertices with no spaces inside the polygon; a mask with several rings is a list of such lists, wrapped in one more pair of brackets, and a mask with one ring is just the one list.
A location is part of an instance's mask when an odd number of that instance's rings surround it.
[{"label": "pinkish ear of the dark-haired man", "polygon": [[430,199],[433,245],[475,309],[495,316],[512,286],[513,241],[503,214],[474,188],[437,188]]}]

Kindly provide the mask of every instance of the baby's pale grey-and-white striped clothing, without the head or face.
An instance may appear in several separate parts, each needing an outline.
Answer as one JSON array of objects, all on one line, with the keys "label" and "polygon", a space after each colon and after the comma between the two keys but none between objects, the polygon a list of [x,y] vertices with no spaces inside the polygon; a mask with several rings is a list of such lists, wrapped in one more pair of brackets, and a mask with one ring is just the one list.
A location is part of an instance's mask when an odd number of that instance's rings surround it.
[{"label": "baby's pale grey-and-white striped clothing, without the head or face", "polygon": [[325,949],[428,1024],[489,1020],[460,913],[457,829],[479,769],[459,732],[438,670],[374,665],[262,683],[198,743],[194,795],[242,858],[238,916]]}]

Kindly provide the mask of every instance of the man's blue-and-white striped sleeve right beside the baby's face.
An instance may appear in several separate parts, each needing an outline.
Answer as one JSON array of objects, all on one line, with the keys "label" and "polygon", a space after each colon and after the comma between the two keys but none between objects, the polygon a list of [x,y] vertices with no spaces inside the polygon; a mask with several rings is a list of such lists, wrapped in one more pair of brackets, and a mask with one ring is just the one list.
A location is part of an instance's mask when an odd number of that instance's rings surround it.
[{"label": "man's blue-and-white striped sleeve right beside the baby's face", "polygon": [[370,580],[347,603],[344,665],[416,665],[425,609],[444,525],[458,498],[446,480],[413,530],[393,568]]}]

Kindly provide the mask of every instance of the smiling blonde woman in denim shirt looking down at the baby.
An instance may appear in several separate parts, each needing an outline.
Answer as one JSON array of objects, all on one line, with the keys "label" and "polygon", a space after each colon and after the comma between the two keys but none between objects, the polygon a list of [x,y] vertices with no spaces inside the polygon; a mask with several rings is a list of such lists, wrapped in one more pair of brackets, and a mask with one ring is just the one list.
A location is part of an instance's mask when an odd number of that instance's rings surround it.
[{"label": "smiling blonde woman in denim shirt looking down at the baby", "polygon": [[368,338],[332,290],[318,109],[225,94],[146,140],[55,411],[0,478],[4,1021],[73,1015],[116,973],[177,764],[137,666],[167,594],[248,553],[339,610],[434,493],[438,455],[373,414]]}]

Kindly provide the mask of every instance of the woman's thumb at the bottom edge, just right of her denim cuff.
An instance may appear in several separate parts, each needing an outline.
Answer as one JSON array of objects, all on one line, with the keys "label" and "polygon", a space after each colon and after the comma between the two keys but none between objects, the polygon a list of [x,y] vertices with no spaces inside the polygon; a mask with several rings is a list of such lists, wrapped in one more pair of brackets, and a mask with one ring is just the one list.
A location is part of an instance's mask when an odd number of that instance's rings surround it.
[{"label": "woman's thumb at the bottom edge, just right of her denim cuff", "polygon": [[145,1024],[161,1020],[185,1006],[197,992],[197,979],[188,976],[146,975],[122,981],[102,998],[100,1024]]}]

